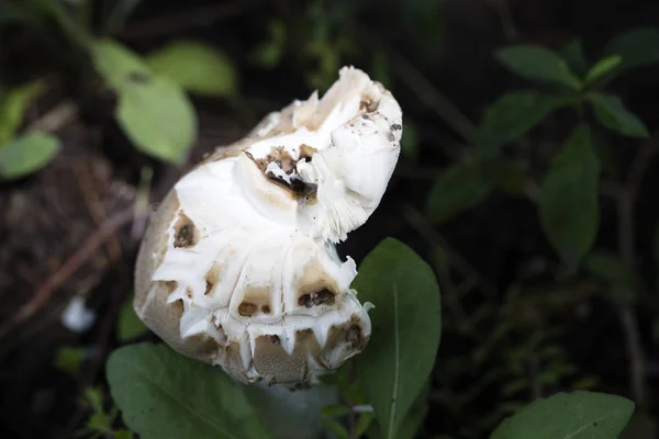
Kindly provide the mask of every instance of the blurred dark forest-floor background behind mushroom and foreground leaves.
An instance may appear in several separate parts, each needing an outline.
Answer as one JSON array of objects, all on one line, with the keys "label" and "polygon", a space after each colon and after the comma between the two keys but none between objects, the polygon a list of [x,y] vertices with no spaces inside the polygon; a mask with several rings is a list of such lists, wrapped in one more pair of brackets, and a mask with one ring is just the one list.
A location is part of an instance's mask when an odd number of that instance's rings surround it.
[{"label": "blurred dark forest-floor background behind mushroom and foreground leaves", "polygon": [[340,252],[395,237],[442,286],[415,437],[578,389],[658,437],[657,1],[0,0],[2,437],[119,437],[104,362],[155,340],[130,306],[154,203],[344,65],[404,131]]}]

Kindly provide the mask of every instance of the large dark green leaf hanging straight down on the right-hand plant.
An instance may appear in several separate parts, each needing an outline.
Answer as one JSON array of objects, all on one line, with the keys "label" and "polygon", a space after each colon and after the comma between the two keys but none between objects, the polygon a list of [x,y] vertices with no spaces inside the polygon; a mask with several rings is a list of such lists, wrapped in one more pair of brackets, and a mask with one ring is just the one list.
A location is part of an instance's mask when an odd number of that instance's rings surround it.
[{"label": "large dark green leaf hanging straight down on the right-hand plant", "polygon": [[588,252],[597,233],[597,176],[590,128],[580,125],[554,159],[539,199],[543,229],[571,267]]}]

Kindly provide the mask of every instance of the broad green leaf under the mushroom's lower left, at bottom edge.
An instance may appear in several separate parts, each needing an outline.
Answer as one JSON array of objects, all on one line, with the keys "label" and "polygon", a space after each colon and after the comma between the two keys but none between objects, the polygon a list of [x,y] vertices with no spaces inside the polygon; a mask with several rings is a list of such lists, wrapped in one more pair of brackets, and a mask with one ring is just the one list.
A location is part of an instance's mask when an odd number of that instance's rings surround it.
[{"label": "broad green leaf under the mushroom's lower left, at bottom edge", "polygon": [[269,437],[226,374],[166,346],[115,350],[108,382],[126,426],[144,439]]}]

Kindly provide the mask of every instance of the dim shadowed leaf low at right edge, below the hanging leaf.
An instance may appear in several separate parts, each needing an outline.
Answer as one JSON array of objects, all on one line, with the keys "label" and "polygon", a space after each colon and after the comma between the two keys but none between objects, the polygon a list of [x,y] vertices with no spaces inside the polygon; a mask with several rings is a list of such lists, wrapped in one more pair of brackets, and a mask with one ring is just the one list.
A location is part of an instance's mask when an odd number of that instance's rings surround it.
[{"label": "dim shadowed leaf low at right edge, below the hanging leaf", "polygon": [[588,271],[608,283],[616,302],[630,302],[643,289],[640,278],[634,269],[612,251],[592,251],[584,262]]}]

